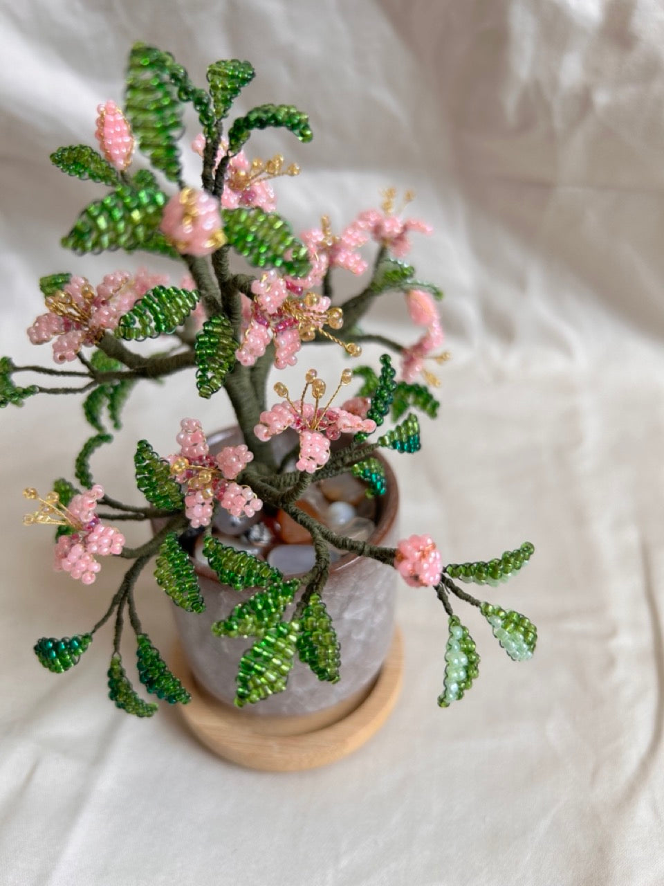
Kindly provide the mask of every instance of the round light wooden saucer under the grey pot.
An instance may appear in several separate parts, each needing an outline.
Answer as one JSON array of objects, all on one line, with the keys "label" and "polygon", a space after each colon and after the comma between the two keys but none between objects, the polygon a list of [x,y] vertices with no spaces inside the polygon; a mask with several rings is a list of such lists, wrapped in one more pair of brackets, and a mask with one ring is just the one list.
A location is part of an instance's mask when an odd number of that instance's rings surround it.
[{"label": "round light wooden saucer under the grey pot", "polygon": [[191,692],[191,702],[178,708],[199,741],[226,760],[264,772],[313,769],[351,754],[382,727],[397,702],[403,664],[397,628],[385,664],[367,692],[327,711],[275,717],[245,715],[212,698],[194,681],[177,649],[174,672]]}]

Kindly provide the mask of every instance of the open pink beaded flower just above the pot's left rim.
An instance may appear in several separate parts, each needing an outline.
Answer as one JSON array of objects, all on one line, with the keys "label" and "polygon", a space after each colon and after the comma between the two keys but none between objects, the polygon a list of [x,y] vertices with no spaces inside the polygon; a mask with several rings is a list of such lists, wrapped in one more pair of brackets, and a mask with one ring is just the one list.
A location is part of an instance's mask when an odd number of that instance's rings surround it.
[{"label": "open pink beaded flower just above the pot's left rim", "polygon": [[187,486],[185,514],[192,527],[210,525],[215,501],[234,517],[253,517],[263,502],[249,486],[233,482],[253,458],[249,449],[244,445],[230,446],[210,455],[205,433],[196,418],[183,418],[180,427],[180,454],[169,455],[168,462],[174,478]]}]

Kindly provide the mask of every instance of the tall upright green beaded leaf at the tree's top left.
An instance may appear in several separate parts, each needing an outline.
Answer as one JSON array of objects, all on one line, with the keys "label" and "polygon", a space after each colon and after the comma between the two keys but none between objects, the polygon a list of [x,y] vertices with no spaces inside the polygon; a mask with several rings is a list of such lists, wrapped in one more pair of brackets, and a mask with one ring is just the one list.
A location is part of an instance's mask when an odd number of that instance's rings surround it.
[{"label": "tall upright green beaded leaf at the tree's top left", "polygon": [[169,69],[173,56],[145,43],[129,52],[125,113],[141,151],[171,182],[182,175],[177,139],[183,132],[178,88]]}]

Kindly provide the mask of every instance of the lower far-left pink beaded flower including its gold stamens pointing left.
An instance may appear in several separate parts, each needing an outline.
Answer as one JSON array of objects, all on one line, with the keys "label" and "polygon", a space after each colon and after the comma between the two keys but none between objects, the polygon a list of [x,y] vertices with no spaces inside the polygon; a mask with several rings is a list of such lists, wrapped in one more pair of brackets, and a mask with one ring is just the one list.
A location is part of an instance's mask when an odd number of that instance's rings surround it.
[{"label": "lower far-left pink beaded flower including its gold stamens pointing left", "polygon": [[73,529],[72,534],[61,535],[56,542],[53,563],[56,571],[69,572],[73,579],[91,585],[101,569],[96,557],[122,552],[124,535],[112,526],[105,526],[95,513],[97,501],[104,495],[103,486],[97,484],[74,495],[68,507],[60,504],[57,493],[49,493],[45,499],[40,499],[35,489],[26,489],[23,494],[27,499],[41,502],[35,514],[23,518],[25,525],[50,524]]}]

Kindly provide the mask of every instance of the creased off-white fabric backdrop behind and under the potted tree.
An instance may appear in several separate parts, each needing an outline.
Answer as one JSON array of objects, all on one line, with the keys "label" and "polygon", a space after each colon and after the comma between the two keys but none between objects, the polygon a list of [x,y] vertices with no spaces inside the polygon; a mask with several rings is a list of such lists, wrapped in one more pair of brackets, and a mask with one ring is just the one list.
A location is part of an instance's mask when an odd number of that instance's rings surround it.
[{"label": "creased off-white fabric backdrop behind and under the potted tree", "polygon": [[[0,24],[2,353],[50,360],[24,335],[38,276],[132,267],[59,248],[97,187],[48,162],[60,144],[92,141],[97,102],[121,97],[129,44],[174,51],[199,82],[213,59],[250,58],[258,77],[242,108],[274,100],[311,113],[313,144],[278,132],[251,143],[302,163],[279,186],[296,229],[321,212],[338,227],[389,184],[413,187],[413,214],[435,225],[412,258],[447,292],[454,359],[423,452],[398,459],[403,525],[433,532],[456,561],[532,540],[537,555],[495,597],[541,638],[532,662],[512,664],[475,612],[459,610],[481,674],[440,711],[444,613],[403,587],[405,689],[381,734],[320,771],[226,765],[177,711],[138,721],[113,708],[106,634],[68,675],[35,663],[36,637],[94,622],[121,564],[104,564],[91,588],[50,571],[46,533],[20,525],[20,492],[70,470],[80,409],[56,398],[8,408],[0,880],[663,882],[662,5],[29,0],[3,4]],[[374,312],[402,340],[404,318],[396,297]],[[219,399],[192,391],[182,376],[166,401],[150,385],[136,392],[96,462],[119,497],[132,494],[135,439],[167,451],[182,415],[228,420]],[[149,575],[139,598],[167,649],[170,603]]]}]

